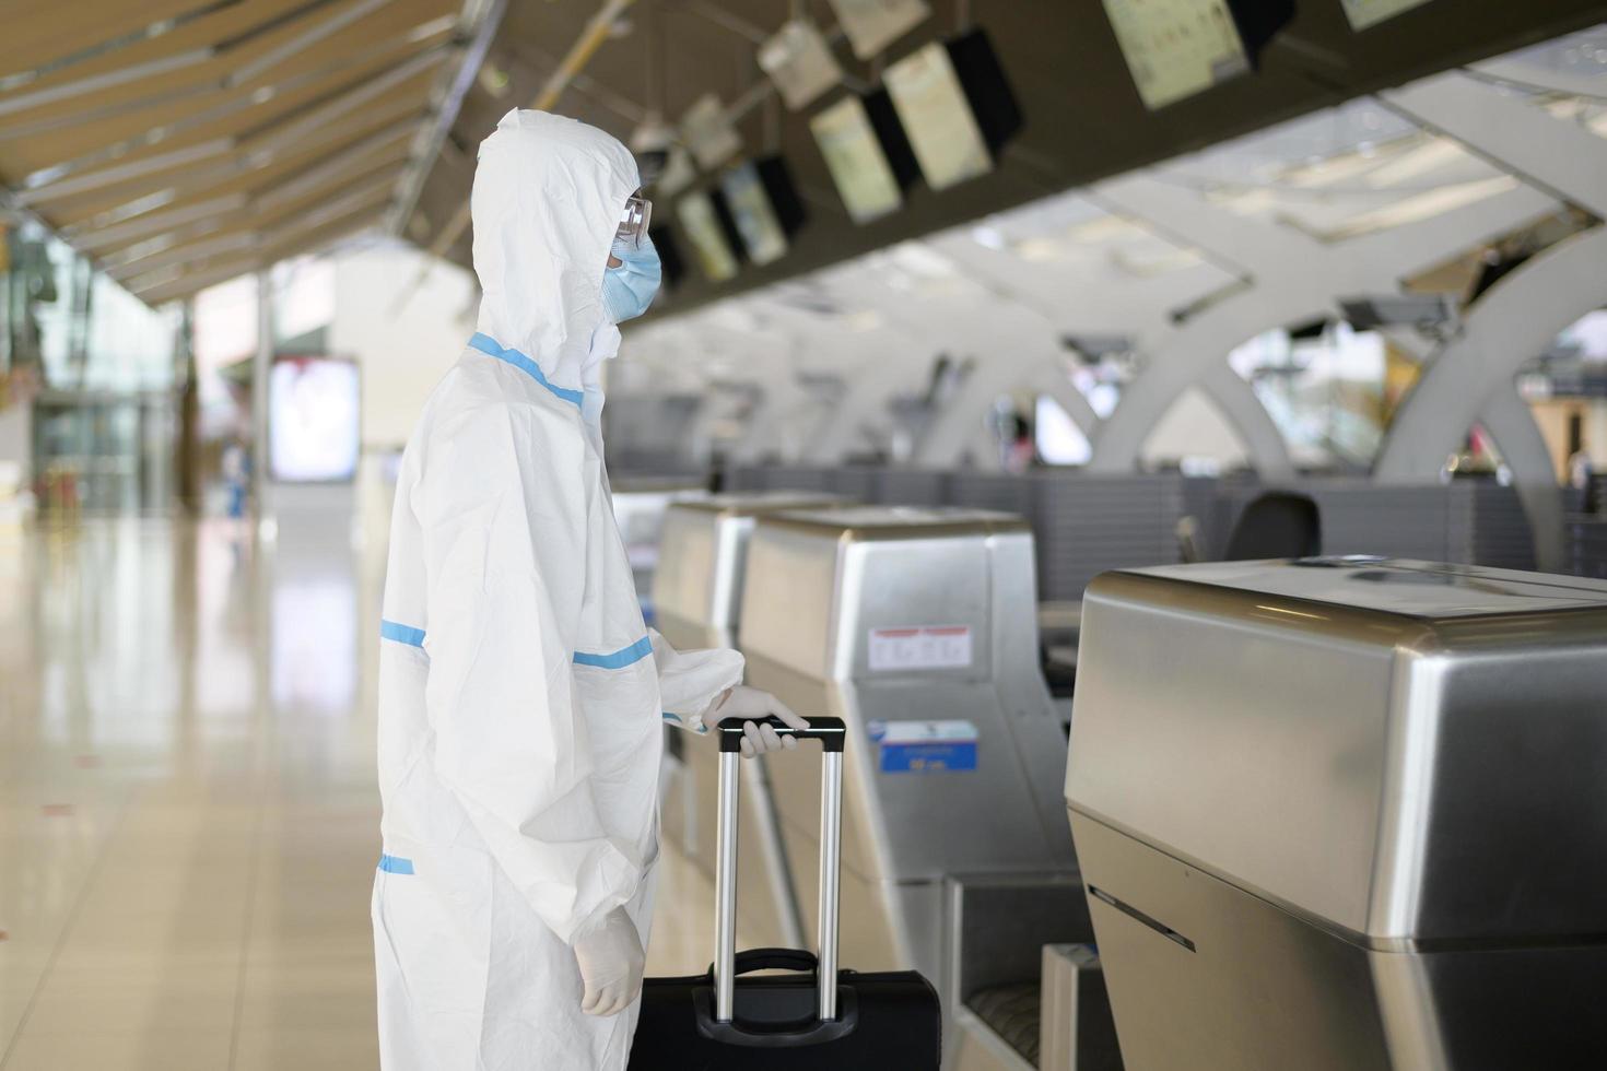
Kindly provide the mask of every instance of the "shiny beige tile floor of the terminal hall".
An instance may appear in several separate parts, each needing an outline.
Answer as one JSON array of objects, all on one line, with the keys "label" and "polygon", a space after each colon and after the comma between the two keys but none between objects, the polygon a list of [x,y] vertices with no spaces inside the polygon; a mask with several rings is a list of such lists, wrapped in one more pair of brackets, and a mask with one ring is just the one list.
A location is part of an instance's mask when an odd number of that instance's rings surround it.
[{"label": "shiny beige tile floor of the terminal hall", "polygon": [[[0,1071],[376,1068],[382,548],[0,530]],[[672,853],[649,973],[709,962]]]}]

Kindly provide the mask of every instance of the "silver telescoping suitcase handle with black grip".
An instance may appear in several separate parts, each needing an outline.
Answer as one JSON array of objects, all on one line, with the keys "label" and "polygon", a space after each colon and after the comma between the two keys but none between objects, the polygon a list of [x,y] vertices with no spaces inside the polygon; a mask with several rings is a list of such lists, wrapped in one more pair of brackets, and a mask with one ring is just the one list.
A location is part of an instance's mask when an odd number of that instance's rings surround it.
[{"label": "silver telescoping suitcase handle with black grip", "polygon": [[[720,723],[720,822],[718,861],[714,890],[714,1018],[730,1023],[736,1004],[736,816],[738,751],[742,726],[752,719],[726,718]],[[815,981],[816,1010],[823,1021],[837,1018],[837,875],[842,862],[842,745],[847,727],[842,718],[810,718],[808,729],[794,729],[779,718],[759,721],[799,740],[820,740],[820,952]]]}]

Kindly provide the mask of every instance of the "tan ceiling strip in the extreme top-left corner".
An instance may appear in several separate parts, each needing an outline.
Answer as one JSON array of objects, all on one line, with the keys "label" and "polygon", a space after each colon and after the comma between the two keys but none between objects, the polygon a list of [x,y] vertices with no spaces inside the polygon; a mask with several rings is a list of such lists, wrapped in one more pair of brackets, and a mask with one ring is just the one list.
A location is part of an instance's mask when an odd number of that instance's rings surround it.
[{"label": "tan ceiling strip in the extreme top-left corner", "polygon": [[209,6],[211,0],[6,0],[0,77]]}]

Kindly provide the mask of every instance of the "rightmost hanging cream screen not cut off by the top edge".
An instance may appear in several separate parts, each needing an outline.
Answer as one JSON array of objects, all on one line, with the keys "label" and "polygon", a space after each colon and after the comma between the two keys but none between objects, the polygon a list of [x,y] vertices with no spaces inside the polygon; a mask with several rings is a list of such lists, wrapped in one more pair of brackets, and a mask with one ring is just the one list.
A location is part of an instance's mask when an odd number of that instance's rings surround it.
[{"label": "rightmost hanging cream screen not cut off by the top edge", "polygon": [[942,42],[892,64],[882,80],[932,189],[947,189],[993,169],[982,128]]}]

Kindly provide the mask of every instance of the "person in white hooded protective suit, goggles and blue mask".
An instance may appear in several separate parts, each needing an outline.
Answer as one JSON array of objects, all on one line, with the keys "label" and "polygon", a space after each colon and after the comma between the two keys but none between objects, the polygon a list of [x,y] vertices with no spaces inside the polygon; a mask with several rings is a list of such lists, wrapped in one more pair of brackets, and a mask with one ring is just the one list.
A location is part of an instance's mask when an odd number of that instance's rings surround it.
[{"label": "person in white hooded protective suit, goggles and blue mask", "polygon": [[[635,1029],[660,724],[805,723],[643,623],[599,366],[657,257],[632,154],[508,112],[471,201],[479,331],[402,456],[379,654],[386,1071],[614,1071]],[[768,727],[744,751],[781,747]],[[786,745],[794,743],[791,737]]]}]

